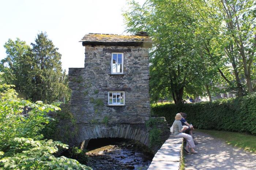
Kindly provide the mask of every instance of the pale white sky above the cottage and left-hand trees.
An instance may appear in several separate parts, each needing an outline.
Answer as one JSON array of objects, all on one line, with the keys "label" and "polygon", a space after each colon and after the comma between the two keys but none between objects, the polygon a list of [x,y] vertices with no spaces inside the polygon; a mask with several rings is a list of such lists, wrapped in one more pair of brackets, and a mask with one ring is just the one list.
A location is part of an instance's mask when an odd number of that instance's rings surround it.
[{"label": "pale white sky above the cottage and left-hand trees", "polygon": [[[143,4],[145,0],[136,0]],[[62,68],[84,67],[85,34],[127,34],[123,20],[126,0],[3,0],[0,1],[0,60],[8,39],[34,43],[38,33],[62,54]]]}]

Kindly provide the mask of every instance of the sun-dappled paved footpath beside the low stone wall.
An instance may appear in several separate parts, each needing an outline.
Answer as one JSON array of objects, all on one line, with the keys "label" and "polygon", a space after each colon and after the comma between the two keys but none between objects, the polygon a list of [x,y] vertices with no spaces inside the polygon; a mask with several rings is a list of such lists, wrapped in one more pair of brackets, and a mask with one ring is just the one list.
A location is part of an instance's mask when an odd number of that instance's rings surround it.
[{"label": "sun-dappled paved footpath beside the low stone wall", "polygon": [[185,170],[256,170],[256,154],[198,131],[195,141],[198,154],[184,151]]}]

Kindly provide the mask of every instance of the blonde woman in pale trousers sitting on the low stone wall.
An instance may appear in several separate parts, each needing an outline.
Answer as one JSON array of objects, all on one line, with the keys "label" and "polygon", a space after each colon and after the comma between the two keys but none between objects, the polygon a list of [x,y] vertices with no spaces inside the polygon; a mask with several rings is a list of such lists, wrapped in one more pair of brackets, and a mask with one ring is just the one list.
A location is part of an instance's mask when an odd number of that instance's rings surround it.
[{"label": "blonde woman in pale trousers sitting on the low stone wall", "polygon": [[[197,153],[193,148],[195,147],[194,140],[191,135],[183,133],[188,127],[184,126],[182,127],[181,125],[181,114],[177,113],[175,116],[175,120],[173,122],[173,127],[174,127],[174,136],[175,137],[182,137],[187,140],[186,147],[184,148],[186,152],[188,153]],[[189,152],[189,148],[191,148],[191,152]]]}]

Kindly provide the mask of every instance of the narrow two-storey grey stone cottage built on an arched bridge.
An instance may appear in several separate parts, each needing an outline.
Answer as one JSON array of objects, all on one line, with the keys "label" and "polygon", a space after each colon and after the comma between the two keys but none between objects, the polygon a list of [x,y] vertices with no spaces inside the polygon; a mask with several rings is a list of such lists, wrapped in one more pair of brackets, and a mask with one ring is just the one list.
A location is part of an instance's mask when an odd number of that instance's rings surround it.
[{"label": "narrow two-storey grey stone cottage built on an arched bridge", "polygon": [[123,137],[147,143],[152,40],[146,32],[90,33],[80,42],[85,47],[84,68],[69,68],[71,112],[80,124],[76,142]]}]

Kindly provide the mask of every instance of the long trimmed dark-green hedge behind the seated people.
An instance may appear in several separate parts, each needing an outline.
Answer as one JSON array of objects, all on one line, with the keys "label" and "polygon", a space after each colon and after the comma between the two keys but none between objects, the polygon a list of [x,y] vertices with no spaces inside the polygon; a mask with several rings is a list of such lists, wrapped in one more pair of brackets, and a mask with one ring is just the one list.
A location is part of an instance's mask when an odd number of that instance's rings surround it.
[{"label": "long trimmed dark-green hedge behind the seated people", "polygon": [[188,123],[196,128],[256,134],[256,93],[243,98],[222,99],[194,104],[152,105],[153,114],[172,124],[178,112],[187,113]]}]

